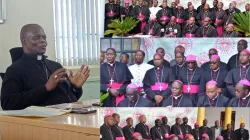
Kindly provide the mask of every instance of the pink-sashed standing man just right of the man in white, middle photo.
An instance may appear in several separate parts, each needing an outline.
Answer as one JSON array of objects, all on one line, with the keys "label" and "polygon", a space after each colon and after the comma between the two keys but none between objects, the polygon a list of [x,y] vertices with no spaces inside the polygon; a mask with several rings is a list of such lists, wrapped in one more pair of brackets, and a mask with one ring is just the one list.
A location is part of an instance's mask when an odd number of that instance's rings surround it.
[{"label": "pink-sashed standing man just right of the man in white, middle photo", "polygon": [[163,57],[161,54],[155,54],[154,60],[155,67],[148,70],[143,79],[143,89],[149,100],[155,103],[156,106],[159,106],[161,102],[157,101],[158,97],[161,97],[162,101],[170,96],[170,89],[168,87],[174,81],[174,74],[172,74],[172,70],[169,67],[162,65]]}]

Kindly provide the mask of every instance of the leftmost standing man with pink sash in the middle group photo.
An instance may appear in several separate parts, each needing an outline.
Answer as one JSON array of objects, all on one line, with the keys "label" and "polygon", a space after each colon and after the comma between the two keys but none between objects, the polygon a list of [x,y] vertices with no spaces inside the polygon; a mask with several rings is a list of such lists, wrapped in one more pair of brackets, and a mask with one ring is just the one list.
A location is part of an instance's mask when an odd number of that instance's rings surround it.
[{"label": "leftmost standing man with pink sash in the middle group photo", "polygon": [[[104,107],[114,107],[124,98],[126,87],[133,79],[126,64],[115,61],[116,51],[108,48],[107,61],[101,65],[101,93],[109,93],[104,100]],[[108,57],[110,55],[111,57]]]}]

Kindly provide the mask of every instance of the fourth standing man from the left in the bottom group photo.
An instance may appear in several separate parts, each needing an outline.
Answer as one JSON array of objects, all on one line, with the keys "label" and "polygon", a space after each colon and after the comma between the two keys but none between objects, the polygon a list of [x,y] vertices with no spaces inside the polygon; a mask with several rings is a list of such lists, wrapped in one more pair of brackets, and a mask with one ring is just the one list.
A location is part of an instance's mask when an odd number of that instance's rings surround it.
[{"label": "fourth standing man from the left in the bottom group photo", "polygon": [[138,123],[135,126],[135,132],[140,133],[143,139],[151,139],[149,128],[146,125],[146,116],[141,115],[139,117],[139,120],[140,120],[140,123]]}]

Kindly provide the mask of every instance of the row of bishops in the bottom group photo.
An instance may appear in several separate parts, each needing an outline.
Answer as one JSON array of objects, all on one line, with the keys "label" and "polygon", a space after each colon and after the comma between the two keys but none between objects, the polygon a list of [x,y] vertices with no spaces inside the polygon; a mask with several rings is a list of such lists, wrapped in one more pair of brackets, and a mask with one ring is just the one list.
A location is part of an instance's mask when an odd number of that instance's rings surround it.
[{"label": "row of bishops in the bottom group photo", "polygon": [[181,119],[176,118],[175,124],[169,126],[168,118],[164,116],[156,119],[155,125],[149,128],[146,116],[141,115],[135,127],[133,118],[128,117],[127,125],[121,128],[120,115],[114,113],[104,117],[104,124],[100,128],[101,140],[249,140],[244,123],[235,131],[231,124],[227,124],[227,129],[223,130],[218,120],[214,126],[208,127],[208,120],[204,119],[202,125],[195,123],[192,129],[187,117],[182,120],[181,123]]}]

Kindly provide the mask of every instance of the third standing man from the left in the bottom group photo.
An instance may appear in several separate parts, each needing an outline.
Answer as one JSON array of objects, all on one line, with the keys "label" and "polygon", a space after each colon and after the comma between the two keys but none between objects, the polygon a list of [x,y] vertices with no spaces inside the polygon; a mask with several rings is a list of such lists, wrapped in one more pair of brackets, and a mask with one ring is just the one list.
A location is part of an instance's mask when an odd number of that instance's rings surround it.
[{"label": "third standing man from the left in the bottom group photo", "polygon": [[135,132],[135,128],[133,127],[133,119],[131,117],[128,117],[126,119],[126,122],[127,122],[127,126],[124,126],[122,128],[122,131],[123,131],[125,139],[126,140],[131,140],[132,136],[133,136],[133,134]]}]

